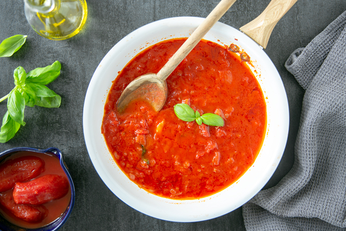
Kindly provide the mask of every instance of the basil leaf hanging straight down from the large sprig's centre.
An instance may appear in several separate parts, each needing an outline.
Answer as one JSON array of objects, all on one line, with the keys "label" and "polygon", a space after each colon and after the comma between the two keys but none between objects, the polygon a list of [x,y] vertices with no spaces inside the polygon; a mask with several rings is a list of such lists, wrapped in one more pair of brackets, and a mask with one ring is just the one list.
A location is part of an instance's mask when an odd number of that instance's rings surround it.
[{"label": "basil leaf hanging straight down from the large sprig's centre", "polygon": [[7,109],[11,118],[20,125],[25,126],[24,122],[25,98],[17,88],[14,88],[7,99]]}]

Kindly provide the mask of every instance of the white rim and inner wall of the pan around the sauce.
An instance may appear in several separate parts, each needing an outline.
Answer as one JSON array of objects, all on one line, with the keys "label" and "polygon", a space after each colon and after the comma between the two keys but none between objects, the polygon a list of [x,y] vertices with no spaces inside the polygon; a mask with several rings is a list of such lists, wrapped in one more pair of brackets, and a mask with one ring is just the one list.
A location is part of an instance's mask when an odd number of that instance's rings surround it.
[{"label": "white rim and inner wall of the pan around the sauce", "polygon": [[[204,38],[221,46],[235,44],[251,57],[254,73],[266,103],[266,130],[263,145],[251,167],[229,187],[199,199],[179,200],[153,195],[133,183],[113,160],[101,134],[107,94],[118,72],[143,48],[162,40],[186,38],[201,18],[160,20],[126,36],[101,61],[86,94],[83,129],[90,159],[101,179],[125,203],[147,215],[171,221],[199,221],[230,212],[253,197],[275,171],[287,139],[288,105],[280,76],[270,59],[247,36],[217,23]],[[189,22],[189,23],[187,23]],[[250,44],[250,45],[249,45]]]}]

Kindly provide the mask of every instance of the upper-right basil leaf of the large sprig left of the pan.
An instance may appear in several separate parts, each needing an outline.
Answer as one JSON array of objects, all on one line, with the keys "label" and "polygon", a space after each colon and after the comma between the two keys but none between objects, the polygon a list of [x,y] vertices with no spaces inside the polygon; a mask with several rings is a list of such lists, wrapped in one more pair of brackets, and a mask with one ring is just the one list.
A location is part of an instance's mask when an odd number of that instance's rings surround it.
[{"label": "upper-right basil leaf of the large sprig left of the pan", "polygon": [[52,65],[39,67],[27,74],[26,83],[39,83],[47,85],[53,82],[60,75],[61,64],[55,61]]}]

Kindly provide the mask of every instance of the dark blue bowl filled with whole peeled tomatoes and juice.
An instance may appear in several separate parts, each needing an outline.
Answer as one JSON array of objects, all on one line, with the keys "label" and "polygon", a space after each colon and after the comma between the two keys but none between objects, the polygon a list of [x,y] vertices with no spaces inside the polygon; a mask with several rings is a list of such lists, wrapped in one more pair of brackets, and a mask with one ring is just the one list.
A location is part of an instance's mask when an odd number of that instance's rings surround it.
[{"label": "dark blue bowl filled with whole peeled tomatoes and juice", "polygon": [[56,148],[0,153],[0,229],[59,229],[74,205],[74,185]]}]

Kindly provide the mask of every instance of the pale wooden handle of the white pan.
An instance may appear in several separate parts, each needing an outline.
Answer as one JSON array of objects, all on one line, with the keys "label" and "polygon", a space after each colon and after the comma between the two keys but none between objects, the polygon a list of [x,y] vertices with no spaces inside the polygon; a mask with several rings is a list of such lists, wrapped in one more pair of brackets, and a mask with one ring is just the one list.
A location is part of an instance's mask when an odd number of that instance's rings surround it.
[{"label": "pale wooden handle of the white pan", "polygon": [[272,0],[262,14],[242,26],[240,30],[266,48],[276,23],[296,2],[297,0]]}]

